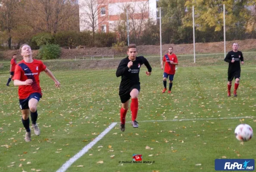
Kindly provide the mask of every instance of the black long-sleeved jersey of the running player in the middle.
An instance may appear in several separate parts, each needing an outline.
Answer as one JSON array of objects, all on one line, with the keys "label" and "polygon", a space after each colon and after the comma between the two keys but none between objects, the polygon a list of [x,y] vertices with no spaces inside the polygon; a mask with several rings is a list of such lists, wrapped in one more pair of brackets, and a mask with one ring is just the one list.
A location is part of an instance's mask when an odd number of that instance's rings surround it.
[{"label": "black long-sleeved jersey of the running player in the middle", "polygon": [[129,60],[128,57],[122,59],[116,71],[116,77],[122,76],[122,80],[119,86],[120,91],[126,91],[130,89],[131,86],[135,84],[140,84],[139,73],[142,64],[145,64],[149,72],[152,71],[149,62],[143,56],[136,57],[135,61],[133,61],[131,68],[128,68],[127,66],[129,61],[131,60]]}]

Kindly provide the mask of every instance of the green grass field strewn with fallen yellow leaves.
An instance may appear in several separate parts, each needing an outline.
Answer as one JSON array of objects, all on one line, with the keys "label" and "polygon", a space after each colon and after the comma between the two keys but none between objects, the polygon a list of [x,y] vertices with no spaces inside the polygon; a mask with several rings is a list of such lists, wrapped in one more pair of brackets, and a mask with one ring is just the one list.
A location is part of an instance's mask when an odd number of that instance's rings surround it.
[{"label": "green grass field strewn with fallen yellow leaves", "polygon": [[[5,86],[4,68],[0,71],[0,171],[55,172],[114,122],[117,125],[67,172],[212,172],[215,159],[253,159],[255,138],[240,143],[234,129],[247,123],[256,130],[255,59],[242,66],[237,98],[227,97],[227,65],[218,64],[178,67],[172,94],[161,92],[162,70],[155,67],[147,77],[143,66],[140,126],[134,129],[127,123],[125,132],[118,126],[121,78],[116,70],[54,70],[60,89],[42,73],[44,95],[37,120],[41,135],[32,135],[29,143],[24,141],[18,88],[13,82]],[[126,121],[130,120],[129,110]],[[131,161],[133,154],[142,154],[143,161],[151,163],[122,163]]]}]

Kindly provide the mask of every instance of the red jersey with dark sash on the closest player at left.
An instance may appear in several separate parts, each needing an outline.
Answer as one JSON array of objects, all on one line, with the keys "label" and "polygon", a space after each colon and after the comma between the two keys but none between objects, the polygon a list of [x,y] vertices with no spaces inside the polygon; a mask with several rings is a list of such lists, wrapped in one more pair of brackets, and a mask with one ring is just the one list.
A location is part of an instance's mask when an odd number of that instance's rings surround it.
[{"label": "red jersey with dark sash on the closest player at left", "polygon": [[46,66],[44,63],[35,59],[33,59],[32,63],[26,63],[24,60],[22,60],[17,64],[12,80],[33,80],[31,86],[19,86],[19,99],[28,98],[28,96],[34,92],[39,92],[42,95],[39,74],[45,69]]}]

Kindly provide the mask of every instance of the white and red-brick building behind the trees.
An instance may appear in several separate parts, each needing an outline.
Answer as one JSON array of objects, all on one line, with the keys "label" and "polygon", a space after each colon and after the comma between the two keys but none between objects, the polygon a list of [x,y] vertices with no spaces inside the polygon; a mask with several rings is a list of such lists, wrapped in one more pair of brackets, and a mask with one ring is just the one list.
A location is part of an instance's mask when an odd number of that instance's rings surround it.
[{"label": "white and red-brick building behind the trees", "polygon": [[[79,0],[80,31],[92,30],[90,25],[86,22],[90,20],[92,16],[88,8],[89,5],[87,2],[89,1],[90,0]],[[109,32],[113,31],[116,22],[121,20],[121,14],[124,15],[124,9],[127,6],[129,6],[129,11],[133,13],[134,20],[139,22],[142,15],[144,15],[144,20],[152,18],[156,21],[156,1],[157,0],[95,0],[94,4],[90,5],[94,6],[94,13],[97,13],[97,15],[95,15],[97,30]],[[88,15],[88,13],[90,13],[90,15]]]}]

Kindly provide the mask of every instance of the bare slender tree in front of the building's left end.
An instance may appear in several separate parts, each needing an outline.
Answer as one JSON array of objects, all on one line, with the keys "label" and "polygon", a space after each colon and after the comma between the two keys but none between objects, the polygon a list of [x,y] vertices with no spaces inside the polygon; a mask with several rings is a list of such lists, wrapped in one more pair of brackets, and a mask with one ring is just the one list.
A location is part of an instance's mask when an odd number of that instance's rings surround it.
[{"label": "bare slender tree in front of the building's left end", "polygon": [[[85,30],[92,31],[92,43],[95,41],[95,32],[101,23],[106,21],[108,15],[101,15],[105,7],[104,0],[84,0],[80,3],[80,20],[84,23]],[[106,11],[105,11],[106,12]],[[94,45],[93,45],[94,46]]]}]

